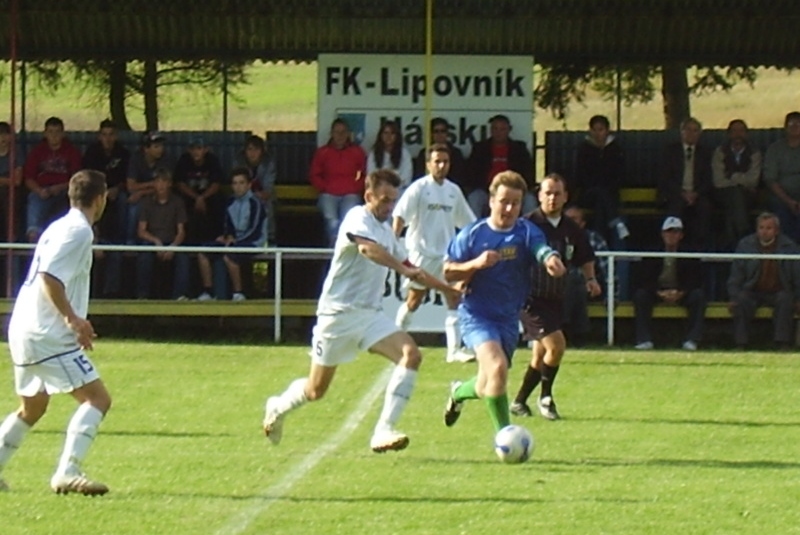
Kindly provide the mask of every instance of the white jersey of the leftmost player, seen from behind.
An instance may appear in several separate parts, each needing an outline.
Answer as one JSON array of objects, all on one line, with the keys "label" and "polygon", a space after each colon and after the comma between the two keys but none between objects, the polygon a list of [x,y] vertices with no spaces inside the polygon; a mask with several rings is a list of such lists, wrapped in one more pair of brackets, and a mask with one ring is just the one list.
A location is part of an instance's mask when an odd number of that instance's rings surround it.
[{"label": "white jersey of the leftmost player, seen from behind", "polygon": [[75,333],[45,295],[38,274],[48,273],[60,280],[72,309],[85,318],[89,308],[93,237],[89,221],[77,208],[70,209],[42,233],[8,325],[8,342],[15,364],[33,364],[80,349]]}]

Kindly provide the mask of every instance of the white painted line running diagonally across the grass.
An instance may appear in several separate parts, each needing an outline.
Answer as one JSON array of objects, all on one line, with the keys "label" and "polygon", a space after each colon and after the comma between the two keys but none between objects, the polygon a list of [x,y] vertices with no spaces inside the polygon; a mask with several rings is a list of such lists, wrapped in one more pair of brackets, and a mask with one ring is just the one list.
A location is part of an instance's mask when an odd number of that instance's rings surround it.
[{"label": "white painted line running diagonally across the grass", "polygon": [[306,455],[302,461],[295,465],[288,474],[283,476],[283,479],[270,486],[264,491],[267,495],[266,498],[259,499],[252,506],[240,512],[217,531],[218,535],[239,535],[243,533],[258,516],[270,508],[272,504],[283,498],[289,492],[295,483],[309,473],[326,455],[333,452],[347,440],[347,438],[356,430],[361,424],[361,421],[366,417],[372,404],[381,395],[386,388],[386,383],[389,381],[389,376],[392,374],[394,366],[387,367],[373,383],[372,387],[364,394],[364,397],[358,402],[358,406],[350,416],[345,420],[344,425],[324,442],[320,447]]}]

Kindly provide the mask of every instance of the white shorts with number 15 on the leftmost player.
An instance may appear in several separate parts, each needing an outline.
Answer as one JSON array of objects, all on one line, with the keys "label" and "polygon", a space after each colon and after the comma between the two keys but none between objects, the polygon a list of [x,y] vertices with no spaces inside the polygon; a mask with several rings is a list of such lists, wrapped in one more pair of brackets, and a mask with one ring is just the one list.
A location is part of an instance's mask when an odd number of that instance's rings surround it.
[{"label": "white shorts with number 15 on the leftmost player", "polygon": [[40,392],[68,393],[97,379],[100,374],[83,351],[71,351],[38,364],[14,365],[14,387],[17,395],[25,397]]}]

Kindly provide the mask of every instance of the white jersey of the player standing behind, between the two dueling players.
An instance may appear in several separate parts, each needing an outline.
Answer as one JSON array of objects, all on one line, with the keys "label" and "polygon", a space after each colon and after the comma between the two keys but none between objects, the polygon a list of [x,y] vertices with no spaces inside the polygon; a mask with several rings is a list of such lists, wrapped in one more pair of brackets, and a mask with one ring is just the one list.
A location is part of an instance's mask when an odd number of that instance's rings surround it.
[{"label": "white jersey of the player standing behind, between the two dueling players", "polygon": [[461,189],[447,179],[439,184],[431,175],[408,187],[393,215],[408,225],[408,250],[426,257],[444,257],[456,229],[475,221]]}]

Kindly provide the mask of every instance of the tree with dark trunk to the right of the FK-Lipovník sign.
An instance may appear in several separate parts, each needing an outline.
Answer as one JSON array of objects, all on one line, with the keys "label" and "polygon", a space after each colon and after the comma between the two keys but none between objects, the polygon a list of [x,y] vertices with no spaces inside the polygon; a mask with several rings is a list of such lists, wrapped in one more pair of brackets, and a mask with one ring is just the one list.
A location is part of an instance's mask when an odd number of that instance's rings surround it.
[{"label": "tree with dark trunk to the right of the FK-Lipovn\u00edk sign", "polygon": [[550,110],[554,117],[563,121],[569,115],[570,104],[583,102],[590,89],[611,99],[619,87],[625,105],[647,103],[655,98],[656,81],[660,79],[664,127],[670,129],[691,115],[692,95],[729,91],[742,81],[752,86],[756,80],[754,67],[696,67],[689,83],[689,67],[684,62],[620,68],[588,64],[543,65],[534,99],[539,107]]}]

